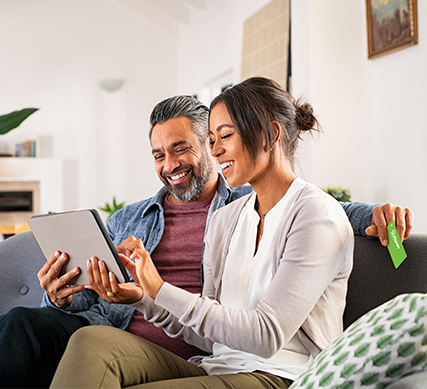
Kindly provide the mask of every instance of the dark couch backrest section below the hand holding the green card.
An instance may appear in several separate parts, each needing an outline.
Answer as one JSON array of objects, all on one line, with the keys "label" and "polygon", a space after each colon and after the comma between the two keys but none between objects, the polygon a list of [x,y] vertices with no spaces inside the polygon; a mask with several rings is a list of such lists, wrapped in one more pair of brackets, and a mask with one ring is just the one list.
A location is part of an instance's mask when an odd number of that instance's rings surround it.
[{"label": "dark couch backrest section below the hand holding the green card", "polygon": [[355,237],[344,328],[399,294],[427,293],[427,234],[412,234],[403,246],[408,257],[396,269],[378,239]]}]

